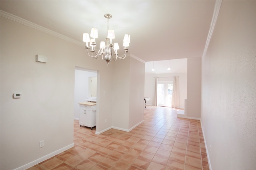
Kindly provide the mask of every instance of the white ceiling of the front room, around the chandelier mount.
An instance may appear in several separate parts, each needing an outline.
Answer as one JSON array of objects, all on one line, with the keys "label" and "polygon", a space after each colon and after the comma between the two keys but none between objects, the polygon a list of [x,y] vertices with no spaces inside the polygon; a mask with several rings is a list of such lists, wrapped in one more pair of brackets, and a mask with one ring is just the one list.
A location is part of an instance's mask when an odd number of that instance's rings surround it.
[{"label": "white ceiling of the front room, around the chandelier mount", "polygon": [[[119,46],[130,34],[129,53],[143,61],[202,57],[215,0],[1,0],[1,10],[82,42],[98,28],[104,41],[107,19]],[[119,50],[119,53],[122,52]],[[155,68],[156,69],[156,68]],[[166,68],[167,69],[167,68]]]}]

